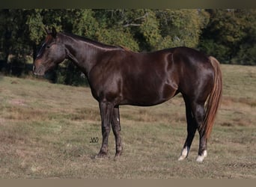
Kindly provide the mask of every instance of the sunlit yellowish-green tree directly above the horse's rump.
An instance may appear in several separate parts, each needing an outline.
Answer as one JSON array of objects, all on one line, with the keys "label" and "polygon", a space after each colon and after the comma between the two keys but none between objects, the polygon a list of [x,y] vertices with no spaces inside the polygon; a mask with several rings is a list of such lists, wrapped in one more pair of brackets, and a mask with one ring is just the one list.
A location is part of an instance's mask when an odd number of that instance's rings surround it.
[{"label": "sunlit yellowish-green tree directly above the horse's rump", "polygon": [[201,31],[209,22],[205,10],[156,10],[159,30],[162,35],[161,47],[198,46]]}]

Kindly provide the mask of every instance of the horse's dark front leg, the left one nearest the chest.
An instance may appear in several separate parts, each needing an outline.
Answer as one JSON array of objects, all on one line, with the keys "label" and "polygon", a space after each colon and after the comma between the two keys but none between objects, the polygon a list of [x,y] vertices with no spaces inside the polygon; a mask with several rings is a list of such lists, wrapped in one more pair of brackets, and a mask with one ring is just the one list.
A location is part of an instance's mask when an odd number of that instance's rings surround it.
[{"label": "horse's dark front leg, the left one nearest the chest", "polygon": [[108,153],[109,132],[111,129],[110,122],[112,120],[114,105],[111,102],[100,102],[100,117],[101,117],[101,129],[103,135],[103,144],[100,148],[100,153],[96,156],[101,158]]}]

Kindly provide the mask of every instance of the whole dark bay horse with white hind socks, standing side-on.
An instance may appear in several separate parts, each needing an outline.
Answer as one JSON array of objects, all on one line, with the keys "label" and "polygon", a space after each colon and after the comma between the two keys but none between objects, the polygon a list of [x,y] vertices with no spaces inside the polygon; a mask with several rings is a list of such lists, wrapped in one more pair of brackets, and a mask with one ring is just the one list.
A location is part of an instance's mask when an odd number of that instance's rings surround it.
[{"label": "whole dark bay horse with white hind socks, standing side-on", "polygon": [[138,53],[57,33],[55,28],[46,32],[46,40],[34,60],[34,74],[43,76],[64,59],[70,59],[85,73],[100,106],[103,143],[97,157],[108,153],[111,127],[115,156],[122,153],[119,105],[157,105],[182,93],[188,134],[179,160],[188,156],[196,130],[199,132],[197,161],[204,160],[222,95],[222,73],[216,58],[187,47]]}]

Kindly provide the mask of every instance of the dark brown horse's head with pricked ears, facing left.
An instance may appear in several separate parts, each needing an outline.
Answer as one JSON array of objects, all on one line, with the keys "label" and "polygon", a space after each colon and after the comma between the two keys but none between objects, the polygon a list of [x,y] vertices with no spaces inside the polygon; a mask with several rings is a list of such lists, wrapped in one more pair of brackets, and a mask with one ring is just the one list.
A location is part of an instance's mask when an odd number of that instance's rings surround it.
[{"label": "dark brown horse's head with pricked ears, facing left", "polygon": [[34,60],[33,73],[37,76],[43,76],[47,70],[55,67],[66,58],[64,44],[61,43],[56,29],[52,28],[52,31],[46,29],[46,33],[46,40]]}]

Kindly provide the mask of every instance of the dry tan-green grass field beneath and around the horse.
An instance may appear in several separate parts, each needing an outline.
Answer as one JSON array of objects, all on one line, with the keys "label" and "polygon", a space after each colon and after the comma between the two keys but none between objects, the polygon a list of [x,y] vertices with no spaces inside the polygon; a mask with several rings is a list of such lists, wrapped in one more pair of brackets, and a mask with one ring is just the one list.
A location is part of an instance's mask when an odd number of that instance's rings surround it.
[{"label": "dry tan-green grass field beneath and around the horse", "polygon": [[[121,106],[124,153],[100,150],[97,102],[89,88],[0,76],[0,177],[83,179],[256,178],[256,67],[222,65],[222,106],[208,156],[178,162],[186,138],[181,96],[148,108]],[[99,142],[90,143],[91,138]]]}]

